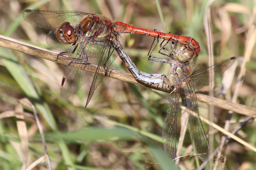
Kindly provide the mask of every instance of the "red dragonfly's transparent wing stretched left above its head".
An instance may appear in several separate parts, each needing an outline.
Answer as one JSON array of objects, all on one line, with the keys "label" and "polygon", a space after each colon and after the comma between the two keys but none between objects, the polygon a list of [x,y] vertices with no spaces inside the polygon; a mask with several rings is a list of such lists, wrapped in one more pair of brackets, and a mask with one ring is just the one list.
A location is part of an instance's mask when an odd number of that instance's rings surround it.
[{"label": "red dragonfly's transparent wing stretched left above its head", "polygon": [[78,11],[40,11],[27,9],[23,13],[23,18],[34,26],[53,29],[61,26],[64,22],[70,22],[71,26],[77,27],[87,15],[89,13]]}]

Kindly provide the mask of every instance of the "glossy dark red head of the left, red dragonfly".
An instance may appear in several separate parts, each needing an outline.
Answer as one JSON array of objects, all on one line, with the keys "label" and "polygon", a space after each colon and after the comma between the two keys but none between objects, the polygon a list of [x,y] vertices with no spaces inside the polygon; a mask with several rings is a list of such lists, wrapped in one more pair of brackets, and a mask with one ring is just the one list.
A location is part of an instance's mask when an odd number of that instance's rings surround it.
[{"label": "glossy dark red head of the left, red dragonfly", "polygon": [[76,42],[76,33],[74,28],[70,25],[69,22],[64,22],[57,31],[57,36],[59,41],[63,44],[73,44]]}]

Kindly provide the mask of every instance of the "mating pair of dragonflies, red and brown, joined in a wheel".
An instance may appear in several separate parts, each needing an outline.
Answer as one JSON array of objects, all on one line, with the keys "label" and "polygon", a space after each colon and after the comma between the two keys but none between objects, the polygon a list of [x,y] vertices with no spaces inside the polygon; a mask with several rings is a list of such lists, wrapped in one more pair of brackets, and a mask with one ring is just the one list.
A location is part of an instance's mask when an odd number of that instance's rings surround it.
[{"label": "mating pair of dragonflies, red and brown, joined in a wheel", "polygon": [[[117,56],[121,58],[135,80],[147,86],[154,86],[160,90],[172,90],[167,96],[169,106],[167,117],[163,124],[163,139],[165,151],[175,158],[176,150],[176,117],[178,113],[179,93],[184,89],[190,122],[191,143],[198,157],[202,161],[208,159],[208,139],[198,113],[197,98],[194,88],[202,88],[209,83],[209,73],[212,70],[215,78],[221,76],[234,62],[234,58],[227,59],[211,67],[200,69],[192,73],[193,55],[200,52],[197,41],[191,37],[184,37],[151,31],[130,26],[122,22],[111,22],[108,18],[82,13],[77,11],[39,11],[26,10],[23,17],[31,24],[50,29],[46,42],[59,51],[59,55],[74,54],[69,69],[61,82],[61,97],[67,98],[76,93],[89,77],[91,72],[74,68],[75,63],[80,63],[83,68],[88,64],[97,64],[96,73],[87,98],[87,104],[103,79],[98,73],[109,68]],[[123,48],[123,39],[120,33],[131,33],[157,37],[157,43],[150,48],[148,60],[170,64],[170,75],[148,74],[137,69]],[[153,49],[157,46],[159,38],[163,39],[159,53],[171,60],[152,56]],[[154,39],[155,40],[155,39]],[[167,44],[173,42],[173,49],[168,50]],[[57,58],[58,60],[58,58]],[[214,77],[210,77],[210,81]]]}]

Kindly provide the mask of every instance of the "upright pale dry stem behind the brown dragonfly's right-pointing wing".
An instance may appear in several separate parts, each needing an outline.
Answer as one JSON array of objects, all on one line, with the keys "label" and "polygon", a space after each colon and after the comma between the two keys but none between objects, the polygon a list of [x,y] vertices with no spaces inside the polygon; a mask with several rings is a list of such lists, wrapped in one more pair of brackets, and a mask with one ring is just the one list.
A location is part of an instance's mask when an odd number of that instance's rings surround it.
[{"label": "upright pale dry stem behind the brown dragonfly's right-pointing wing", "polygon": [[[215,0],[210,0],[206,6],[206,11],[204,15],[204,29],[206,33],[206,40],[207,40],[207,47],[208,47],[208,55],[209,55],[209,66],[212,66],[214,64],[213,62],[213,38],[212,38],[212,25],[211,25],[211,4]],[[213,70],[209,71],[210,77],[213,77]],[[209,78],[210,78],[209,77]],[[209,83],[210,93],[209,95],[213,97],[213,88],[214,88],[214,81],[210,81]],[[213,114],[214,107],[212,104],[209,105],[208,108],[208,117],[210,122],[213,122]],[[213,126],[210,124],[209,126],[209,154],[213,152]],[[209,169],[212,169],[212,160],[210,159]]]}]

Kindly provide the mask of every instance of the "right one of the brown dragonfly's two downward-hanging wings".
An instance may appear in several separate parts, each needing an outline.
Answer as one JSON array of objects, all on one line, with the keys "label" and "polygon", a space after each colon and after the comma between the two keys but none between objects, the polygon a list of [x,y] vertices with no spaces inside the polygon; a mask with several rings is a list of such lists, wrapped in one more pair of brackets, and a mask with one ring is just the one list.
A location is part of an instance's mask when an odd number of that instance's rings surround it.
[{"label": "right one of the brown dragonfly's two downward-hanging wings", "polygon": [[189,132],[191,143],[198,157],[202,161],[206,161],[209,157],[209,144],[199,116],[195,89],[189,82],[186,83],[184,91],[189,113]]}]

